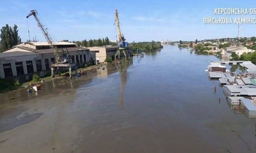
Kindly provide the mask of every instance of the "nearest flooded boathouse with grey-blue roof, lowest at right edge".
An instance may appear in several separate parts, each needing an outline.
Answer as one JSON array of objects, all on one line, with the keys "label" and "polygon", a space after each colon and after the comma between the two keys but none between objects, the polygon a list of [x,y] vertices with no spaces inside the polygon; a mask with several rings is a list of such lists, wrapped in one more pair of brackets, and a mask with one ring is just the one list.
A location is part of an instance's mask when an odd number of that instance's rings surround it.
[{"label": "nearest flooded boathouse with grey-blue roof, lowest at right edge", "polygon": [[241,104],[245,107],[246,115],[248,118],[256,118],[256,106],[252,100],[242,98]]}]

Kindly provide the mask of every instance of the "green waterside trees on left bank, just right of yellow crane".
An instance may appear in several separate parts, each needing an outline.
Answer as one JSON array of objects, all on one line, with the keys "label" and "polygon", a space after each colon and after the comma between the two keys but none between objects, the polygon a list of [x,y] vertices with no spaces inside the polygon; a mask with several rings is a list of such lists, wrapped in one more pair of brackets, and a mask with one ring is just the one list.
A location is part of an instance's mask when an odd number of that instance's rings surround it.
[{"label": "green waterside trees on left bank, just right of yellow crane", "polygon": [[132,46],[133,52],[136,52],[137,48],[142,52],[154,52],[160,48],[163,48],[161,42],[151,41],[151,42],[132,42],[130,44]]}]

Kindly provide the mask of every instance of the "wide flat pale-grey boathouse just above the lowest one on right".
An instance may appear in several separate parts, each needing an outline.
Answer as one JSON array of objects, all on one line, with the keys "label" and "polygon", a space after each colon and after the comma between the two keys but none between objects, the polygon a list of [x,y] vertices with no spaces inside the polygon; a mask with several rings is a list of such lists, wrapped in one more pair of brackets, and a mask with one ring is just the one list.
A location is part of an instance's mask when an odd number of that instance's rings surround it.
[{"label": "wide flat pale-grey boathouse just above the lowest one on right", "polygon": [[256,86],[224,85],[223,92],[226,96],[256,96]]}]

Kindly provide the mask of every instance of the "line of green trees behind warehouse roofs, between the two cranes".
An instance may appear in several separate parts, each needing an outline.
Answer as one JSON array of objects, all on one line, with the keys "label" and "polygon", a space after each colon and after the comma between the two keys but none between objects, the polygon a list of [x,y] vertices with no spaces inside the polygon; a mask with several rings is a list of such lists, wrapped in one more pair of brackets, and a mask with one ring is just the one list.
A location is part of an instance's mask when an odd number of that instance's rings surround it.
[{"label": "line of green trees behind warehouse roofs, between the two cranes", "polygon": [[106,46],[106,45],[111,45],[111,46],[116,46],[117,43],[115,42],[110,42],[108,37],[102,38],[102,39],[90,39],[87,41],[86,39],[83,41],[73,41],[73,43],[76,43],[78,46],[83,46],[83,47],[93,47],[93,46]]}]

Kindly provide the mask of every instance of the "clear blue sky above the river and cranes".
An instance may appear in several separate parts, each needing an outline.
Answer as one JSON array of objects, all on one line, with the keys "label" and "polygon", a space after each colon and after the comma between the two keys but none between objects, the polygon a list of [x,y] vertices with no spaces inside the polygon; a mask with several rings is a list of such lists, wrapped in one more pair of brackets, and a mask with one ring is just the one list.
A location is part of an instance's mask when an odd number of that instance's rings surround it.
[{"label": "clear blue sky above the river and cranes", "polygon": [[[114,12],[118,9],[122,31],[129,42],[236,37],[236,24],[202,23],[203,17],[220,17],[214,15],[214,8],[221,7],[256,8],[256,3],[255,0],[8,0],[0,6],[0,26],[17,24],[22,41],[26,41],[26,15],[36,9],[58,41],[106,36],[115,39]],[[45,41],[34,18],[28,18],[28,25],[30,37],[36,35],[39,41]],[[256,25],[241,25],[240,35],[256,36]]]}]

